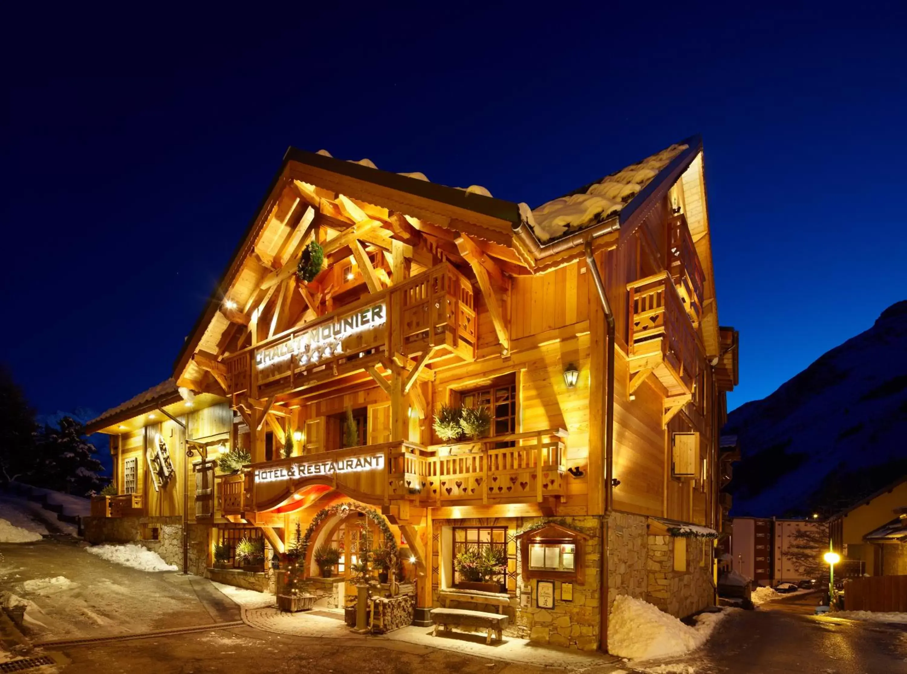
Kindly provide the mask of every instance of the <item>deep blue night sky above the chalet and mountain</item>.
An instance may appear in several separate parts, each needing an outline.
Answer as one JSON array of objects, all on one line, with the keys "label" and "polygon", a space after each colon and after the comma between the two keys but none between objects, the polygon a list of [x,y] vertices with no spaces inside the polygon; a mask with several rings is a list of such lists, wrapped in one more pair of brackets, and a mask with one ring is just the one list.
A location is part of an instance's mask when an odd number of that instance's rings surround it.
[{"label": "deep blue night sky above the chalet and mountain", "polygon": [[7,22],[0,358],[40,411],[170,376],[288,145],[535,206],[701,133],[731,407],[907,298],[902,3],[608,5]]}]

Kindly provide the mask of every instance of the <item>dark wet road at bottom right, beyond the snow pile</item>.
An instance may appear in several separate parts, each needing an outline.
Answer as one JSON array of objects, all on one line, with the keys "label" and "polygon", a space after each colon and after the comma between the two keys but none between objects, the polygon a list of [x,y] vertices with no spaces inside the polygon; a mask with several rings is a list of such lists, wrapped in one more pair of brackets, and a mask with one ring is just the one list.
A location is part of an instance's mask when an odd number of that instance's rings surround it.
[{"label": "dark wet road at bottom right, beyond the snow pile", "polygon": [[687,659],[697,674],[907,674],[907,629],[812,615],[818,595],[736,611]]}]

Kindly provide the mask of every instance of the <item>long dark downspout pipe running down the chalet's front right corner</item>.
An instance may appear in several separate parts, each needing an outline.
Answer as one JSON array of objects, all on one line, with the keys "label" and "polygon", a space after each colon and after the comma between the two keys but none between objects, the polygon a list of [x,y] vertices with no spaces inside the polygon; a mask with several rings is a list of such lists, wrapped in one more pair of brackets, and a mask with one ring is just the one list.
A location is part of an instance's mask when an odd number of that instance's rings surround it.
[{"label": "long dark downspout pipe running down the chalet's front right corner", "polygon": [[605,415],[602,420],[605,432],[605,512],[601,517],[601,620],[599,647],[602,652],[608,651],[608,513],[612,506],[613,490],[613,456],[614,456],[614,312],[611,310],[611,304],[608,300],[608,293],[605,292],[605,283],[601,279],[599,265],[592,254],[592,241],[586,241],[586,263],[589,268],[592,280],[595,282],[595,289],[599,293],[601,308],[605,312],[605,321],[608,331],[608,344],[605,347],[605,378],[607,388],[605,390]]}]

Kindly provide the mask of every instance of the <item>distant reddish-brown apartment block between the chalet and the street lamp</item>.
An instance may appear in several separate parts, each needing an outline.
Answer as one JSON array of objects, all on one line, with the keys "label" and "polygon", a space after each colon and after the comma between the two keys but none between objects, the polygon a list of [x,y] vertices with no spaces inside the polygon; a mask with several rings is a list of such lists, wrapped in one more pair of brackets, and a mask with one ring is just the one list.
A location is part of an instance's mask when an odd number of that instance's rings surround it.
[{"label": "distant reddish-brown apartment block between the chalet and the street lamp", "polygon": [[817,529],[822,525],[809,520],[735,517],[731,535],[732,569],[760,585],[805,580],[785,551],[795,540],[795,532]]}]

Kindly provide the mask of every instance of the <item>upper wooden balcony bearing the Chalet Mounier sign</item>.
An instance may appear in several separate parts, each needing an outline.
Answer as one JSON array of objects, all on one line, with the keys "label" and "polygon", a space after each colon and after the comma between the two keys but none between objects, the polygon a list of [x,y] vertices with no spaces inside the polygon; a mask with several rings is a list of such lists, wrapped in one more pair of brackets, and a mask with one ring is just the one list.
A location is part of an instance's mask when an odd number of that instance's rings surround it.
[{"label": "upper wooden balcony bearing the Chalet Mounier sign", "polygon": [[402,354],[427,364],[473,361],[475,297],[444,263],[224,358],[228,393],[278,396]]}]

